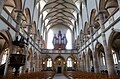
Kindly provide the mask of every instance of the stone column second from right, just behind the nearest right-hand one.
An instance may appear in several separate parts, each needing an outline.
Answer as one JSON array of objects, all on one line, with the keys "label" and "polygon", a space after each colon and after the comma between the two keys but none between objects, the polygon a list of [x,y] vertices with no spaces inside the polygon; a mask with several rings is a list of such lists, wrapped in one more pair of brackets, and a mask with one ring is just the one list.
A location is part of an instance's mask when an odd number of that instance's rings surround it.
[{"label": "stone column second from right, just behind the nearest right-hand one", "polygon": [[[93,26],[90,26],[90,36],[91,40],[93,41]],[[97,53],[95,52],[94,44],[91,42],[92,45],[92,55],[93,55],[93,66],[94,66],[94,72],[99,72],[99,66],[98,66],[98,60],[97,60]]]}]

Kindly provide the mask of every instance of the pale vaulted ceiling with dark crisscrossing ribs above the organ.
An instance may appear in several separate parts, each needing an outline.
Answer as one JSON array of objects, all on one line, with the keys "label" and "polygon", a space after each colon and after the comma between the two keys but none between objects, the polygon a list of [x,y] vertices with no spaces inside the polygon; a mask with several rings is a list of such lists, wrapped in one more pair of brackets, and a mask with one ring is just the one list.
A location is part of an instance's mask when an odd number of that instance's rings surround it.
[{"label": "pale vaulted ceiling with dark crisscrossing ribs above the organ", "polygon": [[45,0],[46,4],[40,12],[41,14],[43,14],[44,11],[47,12],[43,19],[43,23],[48,20],[45,27],[56,24],[74,26],[75,24],[72,20],[77,21],[77,18],[75,17],[76,15],[73,15],[73,12],[76,12],[76,14],[80,12],[75,4],[76,1],[77,0]]}]

